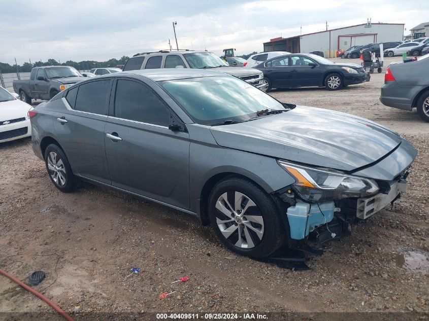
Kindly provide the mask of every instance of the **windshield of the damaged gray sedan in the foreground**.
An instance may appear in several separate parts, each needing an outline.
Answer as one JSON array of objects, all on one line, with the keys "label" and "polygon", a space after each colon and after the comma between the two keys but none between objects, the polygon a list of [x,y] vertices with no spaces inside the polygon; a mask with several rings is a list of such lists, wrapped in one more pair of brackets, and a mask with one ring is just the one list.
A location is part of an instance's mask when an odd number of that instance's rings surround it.
[{"label": "windshield of the damaged gray sedan in the foreground", "polygon": [[202,125],[244,122],[262,110],[285,110],[270,95],[231,76],[170,80],[160,85]]}]

